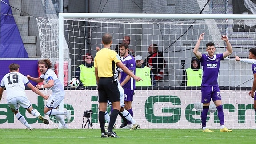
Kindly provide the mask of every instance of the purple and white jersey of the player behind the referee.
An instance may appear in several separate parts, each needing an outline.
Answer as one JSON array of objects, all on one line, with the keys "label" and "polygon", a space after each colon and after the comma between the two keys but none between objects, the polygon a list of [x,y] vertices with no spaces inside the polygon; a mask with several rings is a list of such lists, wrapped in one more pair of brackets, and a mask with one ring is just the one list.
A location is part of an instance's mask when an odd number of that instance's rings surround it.
[{"label": "purple and white jersey of the player behind the referee", "polygon": [[[126,57],[121,57],[120,58],[121,61],[123,62],[123,64],[131,71],[133,71],[133,74],[135,74],[135,67],[136,67],[136,63],[135,63],[135,59],[134,57],[132,57],[131,55],[128,55]],[[120,74],[121,74],[121,79],[120,79],[120,83],[122,83],[124,81],[124,79],[126,78],[127,74],[120,69]],[[135,80],[131,77],[131,79],[123,85],[124,90],[134,90],[135,89]]]}]

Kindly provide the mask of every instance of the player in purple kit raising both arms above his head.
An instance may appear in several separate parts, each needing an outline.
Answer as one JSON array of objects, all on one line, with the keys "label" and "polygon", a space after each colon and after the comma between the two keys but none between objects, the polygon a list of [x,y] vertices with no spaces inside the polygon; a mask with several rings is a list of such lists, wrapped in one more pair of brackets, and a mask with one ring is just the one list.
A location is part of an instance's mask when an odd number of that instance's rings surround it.
[{"label": "player in purple kit raising both arms above his head", "polygon": [[218,111],[218,118],[220,120],[220,132],[232,132],[232,130],[228,130],[228,128],[226,128],[224,125],[224,113],[221,102],[220,88],[218,85],[218,74],[220,69],[220,60],[223,60],[227,56],[231,55],[233,50],[231,44],[228,41],[228,37],[221,36],[221,40],[224,40],[227,45],[227,50],[224,53],[214,54],[216,49],[215,45],[214,43],[209,42],[206,44],[206,51],[208,52],[208,54],[201,54],[198,49],[200,46],[200,42],[201,40],[203,40],[203,38],[204,33],[200,34],[193,50],[197,59],[200,60],[203,69],[203,80],[201,84],[201,102],[203,103],[201,121],[203,126],[203,132],[213,132],[206,127],[207,113],[209,111],[211,99],[214,102]]}]

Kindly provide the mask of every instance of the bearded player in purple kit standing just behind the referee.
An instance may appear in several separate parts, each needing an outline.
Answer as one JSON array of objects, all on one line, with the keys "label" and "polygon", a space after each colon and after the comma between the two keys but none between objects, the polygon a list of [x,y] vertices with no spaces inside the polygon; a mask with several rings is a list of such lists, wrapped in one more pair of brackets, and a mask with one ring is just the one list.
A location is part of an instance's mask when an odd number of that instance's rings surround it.
[{"label": "bearded player in purple kit standing just behind the referee", "polygon": [[[134,57],[129,55],[129,45],[126,43],[122,43],[119,46],[120,59],[123,64],[133,73],[135,74],[136,63]],[[132,111],[132,101],[135,89],[135,80],[127,75],[124,71],[120,70],[120,85],[124,88],[124,108],[133,116]],[[120,115],[121,116],[121,115]],[[122,116],[121,116],[122,117]],[[122,117],[123,118],[123,117]],[[128,121],[126,123],[126,119],[123,118],[123,123],[120,128],[131,128],[132,123]]]}]

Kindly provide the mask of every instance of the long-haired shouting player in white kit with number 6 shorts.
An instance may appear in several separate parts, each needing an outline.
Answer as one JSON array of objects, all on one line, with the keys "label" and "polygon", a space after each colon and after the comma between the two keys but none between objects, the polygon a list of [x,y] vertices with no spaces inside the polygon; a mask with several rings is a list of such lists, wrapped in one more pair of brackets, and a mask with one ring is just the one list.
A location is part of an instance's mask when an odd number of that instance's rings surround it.
[{"label": "long-haired shouting player in white kit with number 6 shorts", "polygon": [[52,90],[52,95],[44,108],[44,113],[49,116],[55,116],[60,124],[62,124],[60,128],[68,128],[68,125],[65,123],[62,115],[67,117],[69,123],[71,119],[71,111],[60,111],[57,109],[60,102],[64,99],[65,91],[60,80],[51,69],[52,62],[49,59],[39,60],[38,67],[41,72],[40,77],[35,78],[27,75],[27,78],[28,80],[33,80],[37,83],[43,81],[46,83],[44,85],[36,85],[36,88],[38,89],[50,88],[50,90]]}]

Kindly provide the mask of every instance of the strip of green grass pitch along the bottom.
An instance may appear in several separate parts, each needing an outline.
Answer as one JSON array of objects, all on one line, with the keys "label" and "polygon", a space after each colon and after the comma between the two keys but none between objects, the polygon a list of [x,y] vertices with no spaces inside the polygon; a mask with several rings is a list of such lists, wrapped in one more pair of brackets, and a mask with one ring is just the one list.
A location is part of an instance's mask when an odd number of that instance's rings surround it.
[{"label": "strip of green grass pitch along the bottom", "polygon": [[2,144],[255,144],[254,129],[116,129],[119,138],[100,138],[99,129],[0,129]]}]

